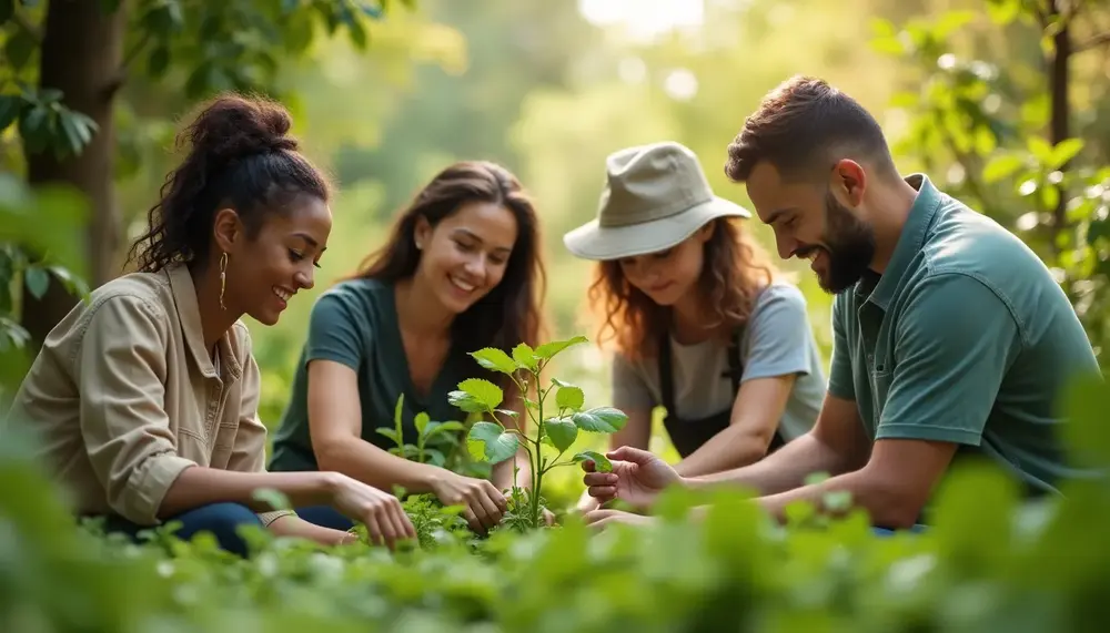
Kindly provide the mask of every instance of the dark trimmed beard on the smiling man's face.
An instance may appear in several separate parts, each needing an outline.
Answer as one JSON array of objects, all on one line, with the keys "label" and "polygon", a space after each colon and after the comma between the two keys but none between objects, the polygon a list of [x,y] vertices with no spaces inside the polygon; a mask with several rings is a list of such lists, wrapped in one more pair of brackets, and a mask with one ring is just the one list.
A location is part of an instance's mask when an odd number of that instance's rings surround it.
[{"label": "dark trimmed beard on the smiling man's face", "polygon": [[871,265],[875,231],[837,202],[833,192],[825,196],[825,226],[824,244],[799,248],[797,255],[808,257],[824,251],[828,269],[817,275],[817,283],[826,293],[839,294],[859,282]]}]

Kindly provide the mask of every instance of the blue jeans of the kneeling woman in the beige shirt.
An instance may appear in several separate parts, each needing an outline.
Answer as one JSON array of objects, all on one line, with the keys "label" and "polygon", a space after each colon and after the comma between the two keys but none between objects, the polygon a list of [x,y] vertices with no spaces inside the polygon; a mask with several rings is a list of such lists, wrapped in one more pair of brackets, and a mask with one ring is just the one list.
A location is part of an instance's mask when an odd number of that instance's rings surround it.
[{"label": "blue jeans of the kneeling woman in the beige shirt", "polygon": [[[354,522],[341,514],[339,511],[327,506],[312,506],[296,509],[296,514],[301,519],[333,530],[346,531],[354,527]],[[138,533],[149,527],[132,523],[119,515],[105,518],[104,531],[112,533],[123,533],[138,541]],[[167,519],[179,521],[181,527],[174,535],[183,541],[192,539],[201,532],[210,532],[220,549],[233,554],[246,558],[246,541],[239,535],[239,528],[243,525],[262,527],[262,521],[250,508],[241,503],[210,503],[188,510]]]}]

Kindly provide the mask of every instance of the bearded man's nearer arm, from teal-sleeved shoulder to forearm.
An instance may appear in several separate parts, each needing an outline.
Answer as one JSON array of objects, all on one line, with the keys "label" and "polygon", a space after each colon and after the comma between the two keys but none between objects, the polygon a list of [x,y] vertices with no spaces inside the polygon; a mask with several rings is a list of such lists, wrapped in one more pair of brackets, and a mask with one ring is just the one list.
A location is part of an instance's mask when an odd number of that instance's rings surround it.
[{"label": "bearded man's nearer arm, from teal-sleeved shoulder to forearm", "polygon": [[763,499],[774,515],[781,517],[797,500],[820,507],[823,494],[844,490],[876,524],[910,527],[957,447],[979,443],[1001,378],[1020,347],[1008,307],[977,279],[938,275],[910,299],[897,337],[891,382],[867,464],[819,486]]}]

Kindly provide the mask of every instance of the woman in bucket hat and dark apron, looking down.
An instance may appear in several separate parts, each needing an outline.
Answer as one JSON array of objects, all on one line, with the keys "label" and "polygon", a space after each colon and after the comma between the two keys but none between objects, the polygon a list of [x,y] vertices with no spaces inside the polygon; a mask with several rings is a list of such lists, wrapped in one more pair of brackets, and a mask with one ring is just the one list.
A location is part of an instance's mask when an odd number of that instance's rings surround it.
[{"label": "woman in bucket hat and dark apron, looking down", "polygon": [[[806,299],[776,279],[740,226],[751,213],[714,195],[695,154],[675,142],[606,160],[597,217],[564,236],[597,261],[589,287],[615,339],[613,406],[628,415],[610,447],[646,450],[652,410],[689,477],[764,458],[808,431],[825,394]],[[578,509],[595,507],[583,493]]]}]

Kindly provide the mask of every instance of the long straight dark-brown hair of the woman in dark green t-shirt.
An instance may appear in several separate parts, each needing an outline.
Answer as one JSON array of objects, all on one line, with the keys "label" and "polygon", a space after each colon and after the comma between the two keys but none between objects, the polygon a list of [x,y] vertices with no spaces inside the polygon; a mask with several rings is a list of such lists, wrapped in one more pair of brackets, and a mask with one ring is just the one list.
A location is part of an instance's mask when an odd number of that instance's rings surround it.
[{"label": "long straight dark-brown hair of the woman in dark green t-shirt", "polygon": [[349,278],[396,283],[416,272],[421,252],[414,234],[423,217],[435,226],[471,202],[503,205],[516,218],[517,238],[505,276],[452,324],[454,340],[473,350],[497,347],[506,351],[521,343],[538,345],[543,330],[543,298],[547,283],[535,207],[516,176],[487,161],[450,165],[427,183],[401,212],[389,241],[371,253]]}]

